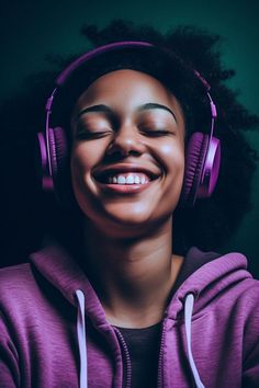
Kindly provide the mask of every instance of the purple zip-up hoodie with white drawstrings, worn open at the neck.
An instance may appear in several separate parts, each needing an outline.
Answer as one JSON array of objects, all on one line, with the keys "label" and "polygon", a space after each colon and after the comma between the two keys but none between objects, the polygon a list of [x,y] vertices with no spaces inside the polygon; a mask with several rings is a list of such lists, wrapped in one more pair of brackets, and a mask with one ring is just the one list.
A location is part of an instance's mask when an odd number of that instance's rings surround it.
[{"label": "purple zip-up hoodie with white drawstrings, worn open at the neck", "polygon": [[[173,294],[158,387],[259,387],[259,282],[246,269],[243,254],[225,254]],[[53,242],[0,271],[1,388],[121,388],[123,374],[130,388],[126,344],[64,248]]]}]

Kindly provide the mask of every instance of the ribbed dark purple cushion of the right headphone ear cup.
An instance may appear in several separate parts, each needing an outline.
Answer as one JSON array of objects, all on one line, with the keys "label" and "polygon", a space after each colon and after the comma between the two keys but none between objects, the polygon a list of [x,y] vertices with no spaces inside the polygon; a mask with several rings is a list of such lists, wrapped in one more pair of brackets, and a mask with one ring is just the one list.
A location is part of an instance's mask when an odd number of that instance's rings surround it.
[{"label": "ribbed dark purple cushion of the right headphone ear cup", "polygon": [[203,167],[210,137],[202,133],[192,134],[185,153],[185,171],[181,193],[181,204],[193,206],[202,180]]}]

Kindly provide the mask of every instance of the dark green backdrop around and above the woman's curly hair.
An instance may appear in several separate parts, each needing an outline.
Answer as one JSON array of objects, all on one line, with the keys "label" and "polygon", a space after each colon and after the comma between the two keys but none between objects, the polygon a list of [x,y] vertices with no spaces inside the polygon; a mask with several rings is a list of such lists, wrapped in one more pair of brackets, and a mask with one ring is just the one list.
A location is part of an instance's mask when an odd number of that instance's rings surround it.
[{"label": "dark green backdrop around and above the woman's curly hair", "polygon": [[[88,49],[79,34],[82,24],[104,26],[122,18],[151,24],[162,32],[170,26],[193,24],[221,34],[225,37],[224,62],[236,70],[230,85],[240,91],[239,100],[259,114],[258,1],[20,1],[2,2],[1,16],[1,99],[21,90],[30,73],[48,69],[47,54],[67,55]],[[259,150],[258,134],[248,137]],[[229,241],[228,249],[244,252],[250,271],[259,278],[258,179],[259,172],[254,183],[255,207]]]}]

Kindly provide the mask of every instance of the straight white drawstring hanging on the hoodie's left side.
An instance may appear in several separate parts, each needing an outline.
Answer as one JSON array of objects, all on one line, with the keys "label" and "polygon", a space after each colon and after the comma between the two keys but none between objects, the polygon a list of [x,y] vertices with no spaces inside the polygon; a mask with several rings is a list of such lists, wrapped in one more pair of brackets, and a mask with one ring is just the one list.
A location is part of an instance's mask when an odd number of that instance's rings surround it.
[{"label": "straight white drawstring hanging on the hoodie's left side", "polygon": [[87,334],[85,321],[85,295],[81,289],[76,290],[78,299],[77,310],[77,338],[80,355],[80,388],[88,387],[88,373],[87,373]]}]

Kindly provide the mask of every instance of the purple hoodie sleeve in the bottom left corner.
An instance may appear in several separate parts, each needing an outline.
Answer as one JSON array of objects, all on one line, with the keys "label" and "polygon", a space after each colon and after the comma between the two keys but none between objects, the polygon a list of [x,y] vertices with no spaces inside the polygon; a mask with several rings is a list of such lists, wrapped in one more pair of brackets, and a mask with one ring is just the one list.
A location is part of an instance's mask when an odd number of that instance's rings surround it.
[{"label": "purple hoodie sleeve in the bottom left corner", "polygon": [[0,312],[0,381],[1,388],[20,387],[18,352],[10,338],[7,324]]}]

